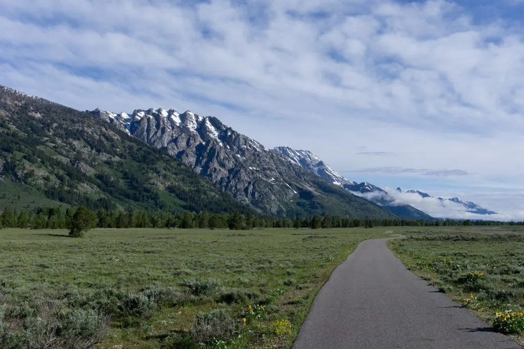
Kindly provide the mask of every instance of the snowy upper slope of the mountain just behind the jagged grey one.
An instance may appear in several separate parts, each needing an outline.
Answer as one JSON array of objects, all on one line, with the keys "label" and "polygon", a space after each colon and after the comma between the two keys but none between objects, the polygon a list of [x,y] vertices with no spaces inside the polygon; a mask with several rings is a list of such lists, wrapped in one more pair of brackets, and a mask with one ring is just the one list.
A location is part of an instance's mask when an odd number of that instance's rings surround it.
[{"label": "snowy upper slope of the mountain just behind the jagged grey one", "polygon": [[307,170],[314,172],[319,177],[335,185],[354,185],[356,182],[344,178],[341,174],[332,170],[318,156],[309,150],[295,150],[290,147],[276,147],[276,151],[285,155],[289,161],[296,163]]}]

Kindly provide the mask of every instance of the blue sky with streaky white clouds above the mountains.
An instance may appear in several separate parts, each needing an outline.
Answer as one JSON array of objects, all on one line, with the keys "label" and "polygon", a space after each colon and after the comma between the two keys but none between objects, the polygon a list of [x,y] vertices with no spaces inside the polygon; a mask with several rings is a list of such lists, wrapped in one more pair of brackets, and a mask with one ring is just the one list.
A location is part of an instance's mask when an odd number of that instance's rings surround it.
[{"label": "blue sky with streaky white clouds above the mountains", "polygon": [[521,0],[0,2],[0,84],[213,115],[381,187],[524,219]]}]

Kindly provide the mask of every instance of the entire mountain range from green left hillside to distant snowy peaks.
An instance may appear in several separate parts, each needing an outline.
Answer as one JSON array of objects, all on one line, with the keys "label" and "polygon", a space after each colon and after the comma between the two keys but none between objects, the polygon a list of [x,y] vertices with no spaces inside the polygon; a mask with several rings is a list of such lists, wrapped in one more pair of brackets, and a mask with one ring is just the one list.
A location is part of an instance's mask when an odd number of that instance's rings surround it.
[{"label": "entire mountain range from green left hillside to distant snowy peaks", "polygon": [[[384,189],[344,178],[310,151],[267,149],[189,110],[82,112],[0,87],[0,136],[0,187],[17,197],[90,207],[214,205],[280,217],[432,219]],[[461,202],[477,214],[494,213]]]}]

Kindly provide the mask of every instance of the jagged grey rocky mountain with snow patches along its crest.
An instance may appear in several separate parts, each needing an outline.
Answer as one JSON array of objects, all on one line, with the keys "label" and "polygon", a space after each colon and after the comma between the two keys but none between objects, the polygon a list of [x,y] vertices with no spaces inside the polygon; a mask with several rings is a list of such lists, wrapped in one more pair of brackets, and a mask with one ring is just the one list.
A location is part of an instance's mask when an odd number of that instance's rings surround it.
[{"label": "jagged grey rocky mountain with snow patches along its crest", "polygon": [[[223,192],[261,212],[287,217],[394,217],[215,117],[161,108],[136,109],[130,114],[96,109],[90,114],[181,160]],[[324,171],[329,173],[327,168]]]}]

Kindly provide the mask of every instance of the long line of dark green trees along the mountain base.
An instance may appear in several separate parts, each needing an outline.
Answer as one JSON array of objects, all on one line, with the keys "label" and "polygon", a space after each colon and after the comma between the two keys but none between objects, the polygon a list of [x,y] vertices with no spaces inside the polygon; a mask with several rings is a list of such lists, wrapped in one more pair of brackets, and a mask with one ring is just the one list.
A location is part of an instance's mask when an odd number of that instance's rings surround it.
[{"label": "long line of dark green trees along the mountain base", "polygon": [[[242,213],[199,213],[185,211],[176,214],[167,211],[146,210],[90,210],[82,207],[91,228],[180,228],[180,229],[232,229],[254,228],[372,228],[422,226],[495,226],[524,225],[522,222],[480,220],[409,220],[367,219],[341,216],[312,216],[309,218],[275,218]],[[6,207],[0,216],[0,228],[70,229],[78,208],[40,207],[36,210],[14,211]]]}]

